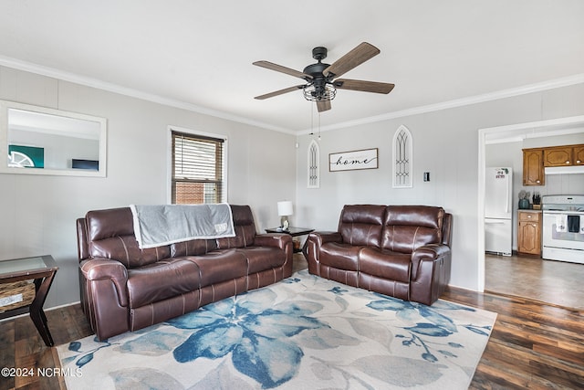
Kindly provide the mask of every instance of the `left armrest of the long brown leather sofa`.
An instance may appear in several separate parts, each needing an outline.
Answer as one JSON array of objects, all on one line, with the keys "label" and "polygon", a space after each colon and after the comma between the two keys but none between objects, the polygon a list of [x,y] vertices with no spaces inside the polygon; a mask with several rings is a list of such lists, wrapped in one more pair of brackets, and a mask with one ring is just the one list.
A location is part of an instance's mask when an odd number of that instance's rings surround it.
[{"label": "left armrest of the long brown leather sofa", "polygon": [[81,274],[89,281],[110,280],[117,291],[120,306],[128,306],[126,283],[128,269],[120,261],[110,258],[90,258],[79,263]]}]

